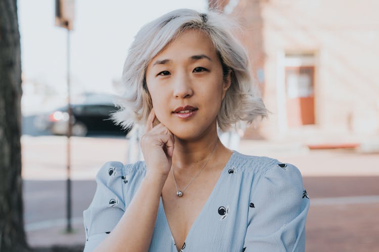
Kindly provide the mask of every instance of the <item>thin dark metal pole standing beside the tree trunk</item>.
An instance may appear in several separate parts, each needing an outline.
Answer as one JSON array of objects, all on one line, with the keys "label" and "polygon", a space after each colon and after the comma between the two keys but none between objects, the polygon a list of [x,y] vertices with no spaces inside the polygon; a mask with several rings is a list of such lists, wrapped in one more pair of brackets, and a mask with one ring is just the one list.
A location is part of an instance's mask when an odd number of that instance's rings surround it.
[{"label": "thin dark metal pole standing beside the tree trunk", "polygon": [[71,174],[70,174],[70,164],[71,164],[71,146],[70,137],[72,135],[72,109],[70,100],[70,30],[67,29],[67,92],[68,92],[68,130],[67,130],[67,228],[66,232],[72,232],[71,226]]}]

